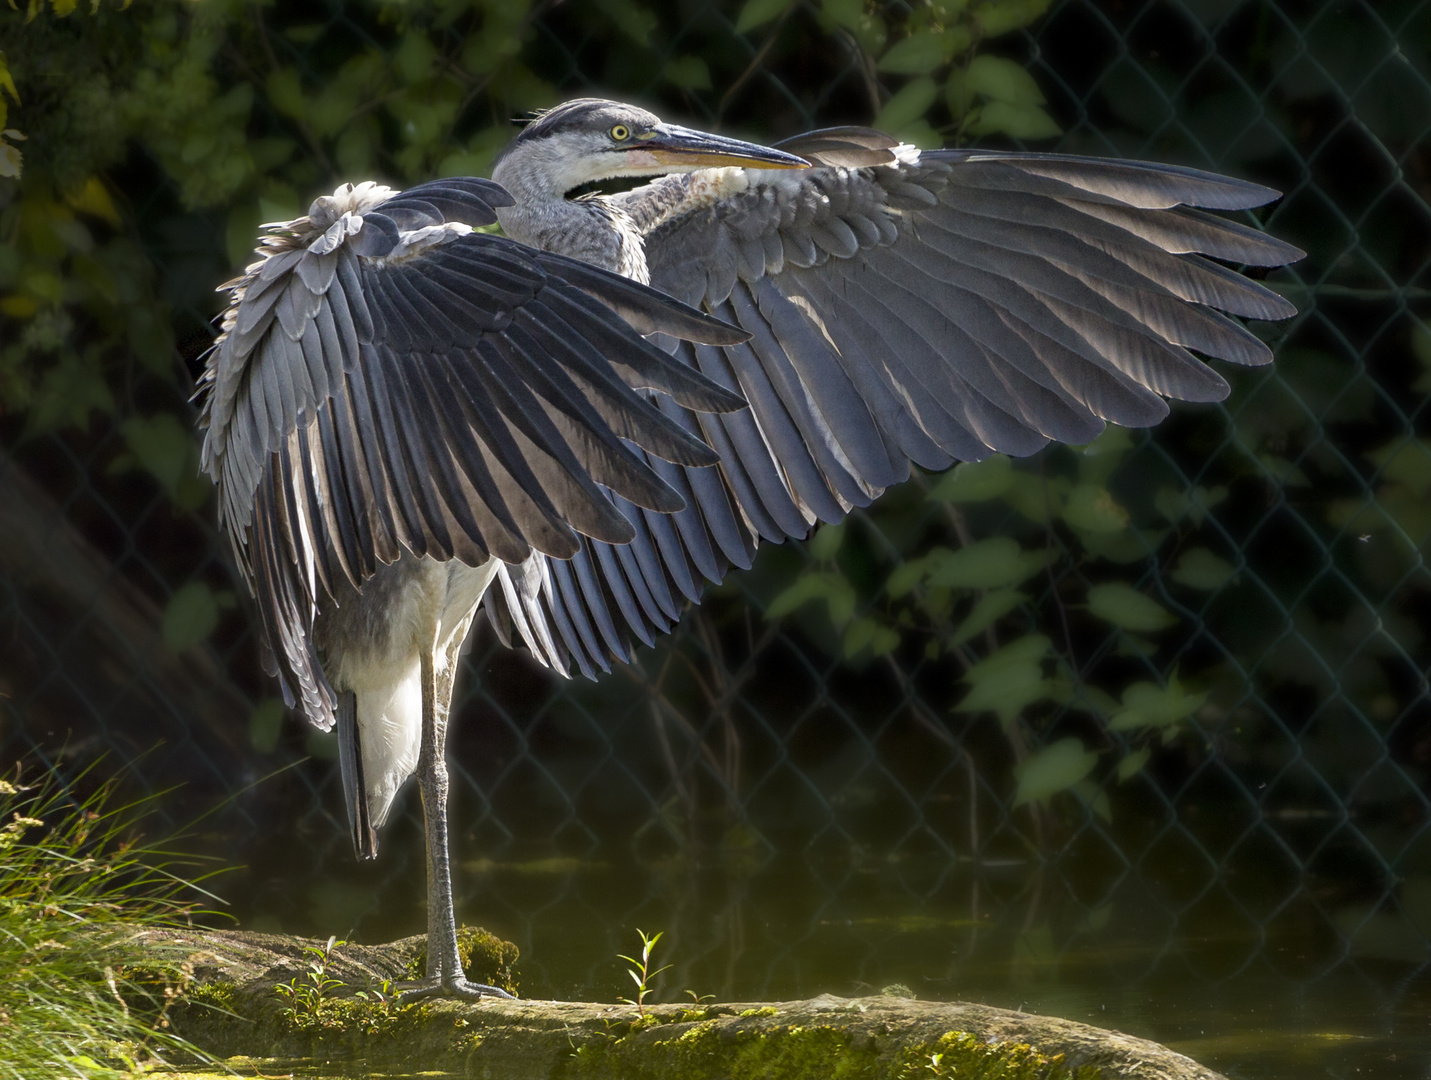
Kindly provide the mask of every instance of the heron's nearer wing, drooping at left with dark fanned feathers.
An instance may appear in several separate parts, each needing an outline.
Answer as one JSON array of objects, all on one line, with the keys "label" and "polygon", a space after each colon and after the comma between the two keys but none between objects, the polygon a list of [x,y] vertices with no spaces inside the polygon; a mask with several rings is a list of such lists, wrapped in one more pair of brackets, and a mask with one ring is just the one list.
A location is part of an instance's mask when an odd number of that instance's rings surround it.
[{"label": "heron's nearer wing, drooping at left with dark fanned feathers", "polygon": [[487,180],[346,186],[270,227],[233,283],[200,382],[203,466],[285,698],[325,730],[312,627],[335,582],[358,586],[402,549],[475,566],[567,558],[581,534],[627,544],[612,495],[675,512],[651,462],[717,462],[638,391],[744,405],[641,336],[743,332],[471,229],[509,203]]}]

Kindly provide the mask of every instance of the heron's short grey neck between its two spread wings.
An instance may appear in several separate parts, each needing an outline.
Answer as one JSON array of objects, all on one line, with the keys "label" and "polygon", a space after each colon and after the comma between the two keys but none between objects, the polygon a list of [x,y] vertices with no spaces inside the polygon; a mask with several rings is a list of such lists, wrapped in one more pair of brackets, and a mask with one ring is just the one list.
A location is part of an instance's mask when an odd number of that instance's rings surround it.
[{"label": "heron's short grey neck between its two spread wings", "polygon": [[612,200],[568,199],[571,177],[547,170],[518,154],[502,159],[492,179],[515,203],[497,212],[502,232],[544,252],[570,255],[604,270],[648,283],[645,246],[630,215]]}]

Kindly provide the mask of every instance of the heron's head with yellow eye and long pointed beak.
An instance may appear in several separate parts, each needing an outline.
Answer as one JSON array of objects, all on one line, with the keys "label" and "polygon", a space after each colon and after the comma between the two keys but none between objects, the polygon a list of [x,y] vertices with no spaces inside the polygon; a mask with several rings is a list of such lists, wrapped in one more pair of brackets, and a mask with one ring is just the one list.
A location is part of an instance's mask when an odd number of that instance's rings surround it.
[{"label": "heron's head with yellow eye and long pointed beak", "polygon": [[634,104],[581,97],[548,109],[502,152],[492,179],[564,195],[592,180],[720,166],[806,169],[803,157],[668,124]]}]

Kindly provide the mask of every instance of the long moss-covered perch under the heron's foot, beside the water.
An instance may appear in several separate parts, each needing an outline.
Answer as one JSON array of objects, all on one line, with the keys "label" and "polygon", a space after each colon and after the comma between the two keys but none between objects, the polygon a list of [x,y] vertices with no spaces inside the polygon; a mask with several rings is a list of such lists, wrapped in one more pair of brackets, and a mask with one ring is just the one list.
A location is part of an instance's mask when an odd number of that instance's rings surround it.
[{"label": "long moss-covered perch under the heron's foot, beside the water", "polygon": [[[469,931],[469,976],[511,978],[517,950]],[[312,1007],[275,991],[322,943],[243,933],[145,931],[133,946],[186,947],[193,983],[177,1034],[265,1074],[366,1076],[422,1069],[502,1080],[1221,1080],[1182,1054],[1056,1017],[914,1001],[903,987],[864,998],[647,1006],[578,1001],[399,1006],[381,990],[422,970],[425,941],[345,944]],[[482,957],[487,960],[484,961]],[[142,958],[142,957],[136,957]],[[482,964],[488,966],[484,967]],[[504,974],[505,973],[505,974]],[[389,986],[391,991],[394,987]],[[249,1067],[249,1066],[245,1066]],[[326,1074],[326,1073],[325,1073]]]}]

